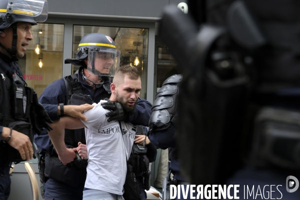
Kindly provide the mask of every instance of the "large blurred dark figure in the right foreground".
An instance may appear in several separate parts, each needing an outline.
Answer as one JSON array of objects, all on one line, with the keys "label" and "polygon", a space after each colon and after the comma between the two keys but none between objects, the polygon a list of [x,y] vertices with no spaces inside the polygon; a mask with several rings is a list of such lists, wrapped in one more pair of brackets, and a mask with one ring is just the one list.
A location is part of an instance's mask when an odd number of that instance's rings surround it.
[{"label": "large blurred dark figure in the right foreground", "polygon": [[191,184],[239,184],[239,199],[244,186],[244,198],[298,199],[300,2],[212,1],[189,1],[188,14],[169,6],[160,21],[183,70],[180,172]]}]

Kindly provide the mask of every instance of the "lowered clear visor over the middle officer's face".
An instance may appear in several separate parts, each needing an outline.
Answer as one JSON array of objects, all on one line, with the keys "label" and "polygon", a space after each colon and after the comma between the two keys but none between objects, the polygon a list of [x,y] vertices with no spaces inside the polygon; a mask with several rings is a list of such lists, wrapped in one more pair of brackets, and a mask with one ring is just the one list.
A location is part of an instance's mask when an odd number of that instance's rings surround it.
[{"label": "lowered clear visor over the middle officer's face", "polygon": [[120,51],[113,48],[88,48],[87,70],[91,75],[114,76],[120,65]]}]

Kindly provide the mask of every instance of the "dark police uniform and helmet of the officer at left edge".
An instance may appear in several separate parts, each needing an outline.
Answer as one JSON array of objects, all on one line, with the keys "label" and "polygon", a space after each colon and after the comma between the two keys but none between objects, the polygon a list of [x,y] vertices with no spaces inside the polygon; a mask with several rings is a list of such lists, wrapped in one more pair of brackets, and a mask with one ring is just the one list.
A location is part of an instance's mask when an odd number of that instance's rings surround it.
[{"label": "dark police uniform and helmet of the officer at left edge", "polygon": [[[32,6],[35,7],[34,11]],[[41,13],[43,14],[40,15]],[[47,1],[1,0],[0,15],[0,33],[8,27],[11,27],[12,30],[11,45],[5,46],[0,42],[1,48],[9,54],[7,56],[0,52],[0,136],[3,127],[10,127],[10,135],[6,142],[0,141],[0,199],[2,200],[7,199],[10,193],[9,169],[11,162],[23,161],[19,152],[7,143],[12,130],[28,135],[33,147],[34,132],[39,133],[41,127],[48,129],[49,126],[46,122],[51,122],[51,120],[43,107],[38,104],[36,93],[32,88],[26,86],[16,62],[18,60],[17,22],[23,21],[36,25],[37,22],[46,20]],[[36,118],[37,115],[42,118]],[[21,125],[23,126],[20,127]]]}]

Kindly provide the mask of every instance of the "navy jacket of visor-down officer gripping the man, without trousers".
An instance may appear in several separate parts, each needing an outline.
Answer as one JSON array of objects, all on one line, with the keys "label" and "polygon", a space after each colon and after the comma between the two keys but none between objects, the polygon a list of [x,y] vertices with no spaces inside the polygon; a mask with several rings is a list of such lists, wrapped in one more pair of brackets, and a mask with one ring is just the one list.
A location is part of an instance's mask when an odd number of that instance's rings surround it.
[{"label": "navy jacket of visor-down officer gripping the man, without trousers", "polygon": [[[103,86],[96,86],[96,88],[93,89],[91,86],[87,85],[82,77],[82,70],[83,67],[81,66],[78,70],[77,77],[82,85],[84,94],[89,95],[95,103],[110,96]],[[59,116],[57,115],[57,105],[59,103],[65,103],[65,98],[65,82],[63,78],[60,78],[47,85],[38,100],[45,107],[50,118],[52,120],[57,120],[59,119]],[[128,122],[147,126],[151,114],[151,106],[151,103],[147,100],[138,99],[133,114],[129,115]],[[40,150],[52,154],[53,145],[45,129],[43,130],[43,135],[36,135],[35,144]]]}]

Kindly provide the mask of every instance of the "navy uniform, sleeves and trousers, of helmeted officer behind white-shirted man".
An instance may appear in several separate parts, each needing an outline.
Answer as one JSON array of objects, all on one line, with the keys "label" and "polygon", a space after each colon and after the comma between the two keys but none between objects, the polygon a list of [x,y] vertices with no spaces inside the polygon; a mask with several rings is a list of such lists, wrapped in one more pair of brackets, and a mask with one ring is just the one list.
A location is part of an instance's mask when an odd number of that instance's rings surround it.
[{"label": "navy uniform, sleeves and trousers, of helmeted officer behind white-shirted man", "polygon": [[[81,71],[83,67],[79,68],[78,81],[82,85],[84,94],[89,95],[95,103],[98,103],[101,99],[109,97],[110,94],[103,88],[103,86],[96,86],[93,89],[87,85],[82,77]],[[59,119],[57,115],[57,105],[59,103],[65,103],[66,87],[62,78],[55,80],[49,84],[42,94],[39,96],[39,102],[45,107],[48,115],[52,120]],[[128,122],[138,125],[148,125],[149,117],[151,114],[151,103],[144,99],[138,99],[133,114],[129,115]],[[43,131],[43,135],[36,135],[35,143],[37,147],[49,154],[53,152],[53,145],[47,134],[47,131]],[[75,176],[76,174],[74,174]],[[86,175],[86,174],[85,174]],[[85,179],[85,178],[83,178]],[[45,199],[82,199],[82,191],[84,187],[84,181],[80,182],[78,186],[70,186],[53,179],[48,179],[45,183]],[[63,196],[62,196],[63,195]]]}]

